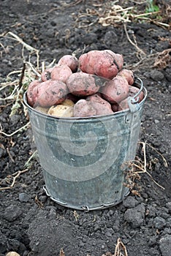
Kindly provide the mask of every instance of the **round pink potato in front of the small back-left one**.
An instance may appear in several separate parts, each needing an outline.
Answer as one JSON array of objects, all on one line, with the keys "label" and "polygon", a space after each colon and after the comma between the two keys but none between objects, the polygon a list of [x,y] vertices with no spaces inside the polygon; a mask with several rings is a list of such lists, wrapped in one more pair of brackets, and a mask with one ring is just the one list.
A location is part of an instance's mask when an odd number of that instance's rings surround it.
[{"label": "round pink potato in front of the small back-left one", "polygon": [[60,80],[66,83],[66,80],[69,76],[72,75],[72,70],[65,64],[63,65],[56,65],[53,67],[51,71],[51,79],[52,80]]}]

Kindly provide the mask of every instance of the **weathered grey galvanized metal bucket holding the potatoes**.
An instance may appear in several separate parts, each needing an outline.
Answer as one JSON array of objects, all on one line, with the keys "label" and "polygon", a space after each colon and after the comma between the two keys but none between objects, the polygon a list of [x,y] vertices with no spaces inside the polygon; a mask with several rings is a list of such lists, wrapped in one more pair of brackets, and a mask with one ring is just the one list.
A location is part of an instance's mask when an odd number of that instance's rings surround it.
[{"label": "weathered grey galvanized metal bucket holding the potatoes", "polygon": [[31,108],[24,94],[45,192],[56,203],[79,210],[115,206],[129,194],[124,187],[126,162],[134,160],[147,91],[129,97],[130,110],[108,116],[56,118]]}]

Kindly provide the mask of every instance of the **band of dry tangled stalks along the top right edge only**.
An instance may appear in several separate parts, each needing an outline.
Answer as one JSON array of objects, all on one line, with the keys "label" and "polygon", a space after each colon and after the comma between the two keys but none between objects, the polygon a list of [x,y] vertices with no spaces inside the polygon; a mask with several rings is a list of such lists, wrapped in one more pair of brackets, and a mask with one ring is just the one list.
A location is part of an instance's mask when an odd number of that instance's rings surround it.
[{"label": "band of dry tangled stalks along the top right edge only", "polygon": [[[134,3],[134,4],[132,4]],[[123,23],[155,23],[170,29],[171,8],[164,4],[159,11],[149,11],[148,1],[97,1],[90,3],[85,13],[77,14],[77,26],[88,28],[95,23],[102,26],[121,26]],[[94,17],[94,22],[88,18]]]}]

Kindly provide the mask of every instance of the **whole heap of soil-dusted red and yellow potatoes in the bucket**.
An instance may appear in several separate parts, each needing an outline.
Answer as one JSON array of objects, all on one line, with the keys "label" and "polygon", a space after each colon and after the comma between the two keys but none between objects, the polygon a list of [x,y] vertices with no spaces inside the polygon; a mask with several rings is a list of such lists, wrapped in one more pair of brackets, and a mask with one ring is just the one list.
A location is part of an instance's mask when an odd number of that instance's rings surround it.
[{"label": "whole heap of soil-dusted red and yellow potatoes in the bucket", "polygon": [[[65,55],[28,86],[28,104],[58,118],[104,116],[129,108],[137,94],[132,70],[111,50],[91,50],[79,59]],[[144,97],[140,93],[138,101]]]}]

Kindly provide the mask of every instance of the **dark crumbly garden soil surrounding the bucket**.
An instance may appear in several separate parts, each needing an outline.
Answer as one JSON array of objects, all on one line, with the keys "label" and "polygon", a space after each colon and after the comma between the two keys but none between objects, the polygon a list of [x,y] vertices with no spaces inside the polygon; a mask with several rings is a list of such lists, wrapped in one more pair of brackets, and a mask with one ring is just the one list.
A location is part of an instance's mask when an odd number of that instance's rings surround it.
[{"label": "dark crumbly garden soil surrounding the bucket", "polygon": [[[75,52],[79,56],[83,51],[110,49],[123,54],[124,67],[134,70],[148,91],[140,131],[148,173],[131,178],[135,186],[117,206],[89,212],[59,206],[46,195],[37,157],[26,165],[35,151],[31,127],[15,132],[28,123],[23,105],[9,116],[13,101],[1,99],[0,129],[6,134],[0,135],[1,256],[11,251],[23,256],[114,255],[118,238],[125,246],[119,247],[124,256],[170,255],[170,31],[159,23],[140,20],[124,27],[121,20],[117,23],[111,19],[110,26],[103,26],[105,20],[102,24],[99,18],[107,17],[112,2],[1,1],[1,83],[9,79],[9,72],[16,71],[13,76],[18,79],[23,61],[37,66],[37,56],[28,45],[39,50],[39,61],[46,65],[64,54]],[[113,4],[144,8],[135,1]],[[169,1],[156,4],[167,10]],[[7,34],[9,31],[26,42],[26,47]],[[12,89],[7,86],[1,90],[1,98]],[[137,157],[143,163],[142,143],[138,144]]]}]

